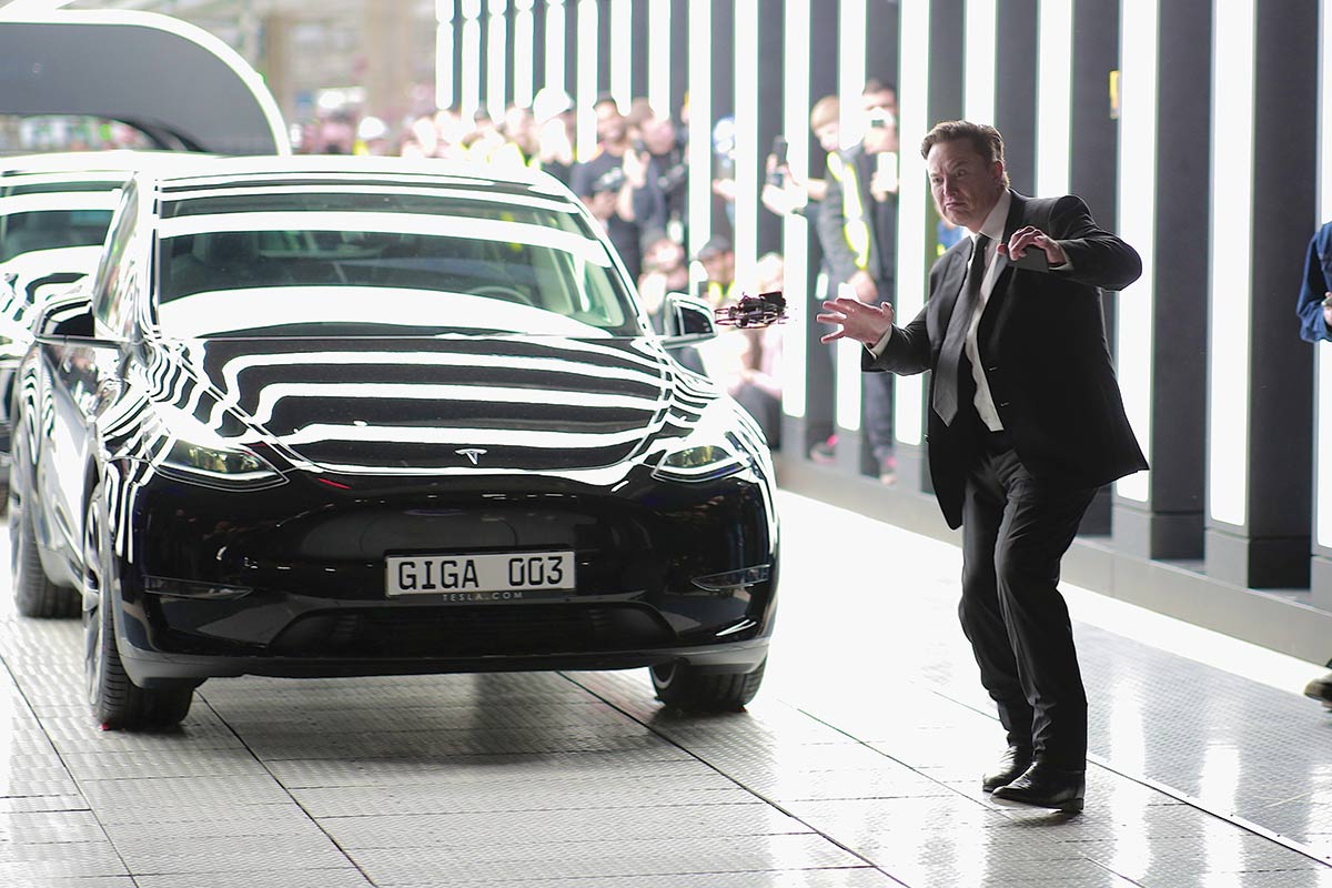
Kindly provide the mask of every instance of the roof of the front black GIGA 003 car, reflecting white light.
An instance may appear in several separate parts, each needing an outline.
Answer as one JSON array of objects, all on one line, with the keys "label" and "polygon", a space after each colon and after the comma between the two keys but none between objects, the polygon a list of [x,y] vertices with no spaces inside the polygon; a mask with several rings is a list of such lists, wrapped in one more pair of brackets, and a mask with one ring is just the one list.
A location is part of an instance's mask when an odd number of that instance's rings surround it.
[{"label": "roof of the front black GIGA 003 car, reflecting white light", "polygon": [[573,200],[557,178],[539,170],[497,169],[466,161],[414,157],[358,157],[348,154],[289,154],[262,157],[216,157],[169,166],[144,168],[139,177],[155,180],[164,192],[193,188],[241,188],[257,184],[336,181],[394,181],[488,186],[505,193],[538,193]]}]

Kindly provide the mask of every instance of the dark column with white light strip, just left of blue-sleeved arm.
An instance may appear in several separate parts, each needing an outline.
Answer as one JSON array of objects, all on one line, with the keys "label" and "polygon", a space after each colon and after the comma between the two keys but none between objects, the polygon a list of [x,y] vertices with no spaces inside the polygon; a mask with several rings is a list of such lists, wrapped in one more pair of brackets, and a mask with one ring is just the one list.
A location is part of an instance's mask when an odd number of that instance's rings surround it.
[{"label": "dark column with white light strip, just left of blue-sleeved arm", "polygon": [[1319,21],[1315,4],[1256,7],[1213,7],[1205,563],[1241,586],[1303,587],[1313,362],[1289,293],[1316,206]]}]

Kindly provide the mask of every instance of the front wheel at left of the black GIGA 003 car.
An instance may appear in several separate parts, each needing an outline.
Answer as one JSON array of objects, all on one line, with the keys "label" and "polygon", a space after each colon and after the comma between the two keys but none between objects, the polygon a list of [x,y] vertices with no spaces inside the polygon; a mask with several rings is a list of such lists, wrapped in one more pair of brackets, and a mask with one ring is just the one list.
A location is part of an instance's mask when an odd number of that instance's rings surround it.
[{"label": "front wheel at left of the black GIGA 003 car", "polygon": [[112,731],[161,730],[189,715],[194,684],[139,687],[129,680],[116,650],[116,619],[107,602],[115,594],[113,562],[101,514],[101,486],[88,502],[84,519],[84,672],[88,703],[97,723]]}]

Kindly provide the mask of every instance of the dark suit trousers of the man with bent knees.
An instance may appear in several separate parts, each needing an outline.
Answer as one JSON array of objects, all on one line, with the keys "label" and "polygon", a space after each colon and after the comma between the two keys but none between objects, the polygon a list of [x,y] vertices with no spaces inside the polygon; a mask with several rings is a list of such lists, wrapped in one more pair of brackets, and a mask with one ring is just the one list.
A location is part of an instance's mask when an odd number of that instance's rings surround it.
[{"label": "dark suit trousers of the man with bent knees", "polygon": [[962,630],[1008,742],[1076,771],[1087,760],[1087,695],[1059,562],[1095,493],[1034,477],[1004,433],[978,433],[962,513]]}]

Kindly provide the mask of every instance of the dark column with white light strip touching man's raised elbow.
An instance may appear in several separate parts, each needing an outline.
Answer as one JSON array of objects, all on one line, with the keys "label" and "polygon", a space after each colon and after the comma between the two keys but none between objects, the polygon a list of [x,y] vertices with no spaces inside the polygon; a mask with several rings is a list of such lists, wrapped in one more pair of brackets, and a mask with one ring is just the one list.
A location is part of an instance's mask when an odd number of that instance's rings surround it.
[{"label": "dark column with white light strip touching man's raised elbow", "polygon": [[1212,0],[1126,0],[1120,21],[1132,39],[1120,43],[1118,230],[1143,257],[1143,276],[1115,302],[1115,363],[1152,470],[1116,482],[1111,533],[1134,555],[1197,559],[1207,335],[1180,320],[1207,314],[1209,250],[1180,250],[1179,233],[1208,213],[1197,156],[1209,120]]}]

